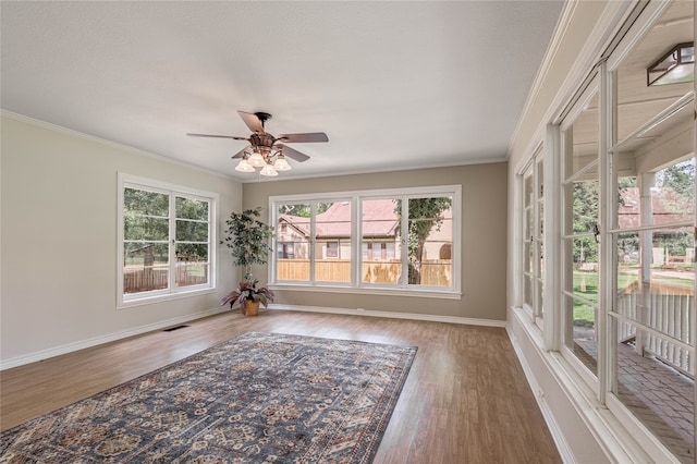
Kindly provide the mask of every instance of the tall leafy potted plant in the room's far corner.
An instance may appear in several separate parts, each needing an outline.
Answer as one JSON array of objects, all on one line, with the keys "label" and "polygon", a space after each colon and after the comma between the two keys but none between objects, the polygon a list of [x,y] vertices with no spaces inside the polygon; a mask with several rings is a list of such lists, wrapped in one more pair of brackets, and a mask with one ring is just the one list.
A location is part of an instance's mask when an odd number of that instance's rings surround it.
[{"label": "tall leafy potted plant in the room's far corner", "polygon": [[257,288],[259,281],[252,278],[252,265],[267,262],[271,251],[269,239],[273,236],[273,228],[261,222],[260,217],[261,207],[232,212],[225,221],[225,237],[220,241],[230,248],[234,265],[244,268],[244,280],[220,301],[220,305],[229,303],[232,308],[240,303],[245,316],[256,316],[259,304],[266,307],[273,301],[273,292],[266,286]]}]

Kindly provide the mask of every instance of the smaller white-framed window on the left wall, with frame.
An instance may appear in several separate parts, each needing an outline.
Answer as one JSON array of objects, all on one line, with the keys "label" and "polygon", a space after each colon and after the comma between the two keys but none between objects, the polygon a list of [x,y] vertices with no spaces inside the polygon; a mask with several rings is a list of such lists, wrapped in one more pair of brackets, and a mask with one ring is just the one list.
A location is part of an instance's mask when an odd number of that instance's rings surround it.
[{"label": "smaller white-framed window on the left wall, with frame", "polygon": [[212,288],[215,195],[120,175],[119,306]]}]

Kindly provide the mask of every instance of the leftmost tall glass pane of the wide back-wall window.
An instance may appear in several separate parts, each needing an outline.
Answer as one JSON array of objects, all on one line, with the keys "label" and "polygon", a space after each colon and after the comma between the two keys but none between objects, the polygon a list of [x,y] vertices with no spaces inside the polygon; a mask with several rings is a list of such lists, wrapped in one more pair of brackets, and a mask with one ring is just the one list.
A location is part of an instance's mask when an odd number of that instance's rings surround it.
[{"label": "leftmost tall glass pane of the wide back-wall window", "polygon": [[309,281],[310,205],[279,205],[277,212],[277,279]]}]

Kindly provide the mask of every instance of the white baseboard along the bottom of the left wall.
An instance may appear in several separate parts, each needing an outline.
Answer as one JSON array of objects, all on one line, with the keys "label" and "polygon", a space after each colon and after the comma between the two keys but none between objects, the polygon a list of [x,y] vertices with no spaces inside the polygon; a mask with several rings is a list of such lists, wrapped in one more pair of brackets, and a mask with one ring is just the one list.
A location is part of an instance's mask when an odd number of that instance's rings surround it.
[{"label": "white baseboard along the bottom of the left wall", "polygon": [[174,317],[172,319],[161,320],[159,322],[148,323],[147,326],[135,327],[133,329],[122,330],[120,332],[108,333],[106,335],[95,337],[93,339],[81,340],[78,342],[68,343],[61,346],[56,346],[48,350],[38,351],[35,353],[26,354],[23,356],[13,357],[10,359],[0,359],[0,370],[10,369],[12,367],[23,366],[29,363],[36,363],[38,361],[48,359],[49,357],[60,356],[61,354],[71,353],[78,350],[84,350],[91,346],[97,346],[103,343],[113,342],[117,340],[125,339],[133,335],[139,335],[140,333],[151,332],[154,330],[164,329],[178,323],[188,322],[194,319],[200,319],[203,317],[212,316],[218,313],[229,310],[228,308],[213,308],[199,313],[188,314],[185,316]]}]

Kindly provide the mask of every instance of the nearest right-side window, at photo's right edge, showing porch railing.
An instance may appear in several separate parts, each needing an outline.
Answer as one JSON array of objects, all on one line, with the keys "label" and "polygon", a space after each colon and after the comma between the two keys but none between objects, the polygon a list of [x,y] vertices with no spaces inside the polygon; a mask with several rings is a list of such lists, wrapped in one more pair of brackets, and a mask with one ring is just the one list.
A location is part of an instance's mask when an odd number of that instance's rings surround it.
[{"label": "nearest right-side window, at photo's right edge, showing porch railing", "polygon": [[632,44],[626,58],[609,61],[617,121],[609,151],[619,167],[608,198],[613,211],[609,386],[612,398],[670,452],[694,462],[694,83],[636,82],[637,63],[694,41],[694,3],[660,7],[656,25]]}]

